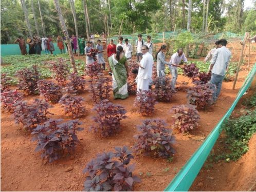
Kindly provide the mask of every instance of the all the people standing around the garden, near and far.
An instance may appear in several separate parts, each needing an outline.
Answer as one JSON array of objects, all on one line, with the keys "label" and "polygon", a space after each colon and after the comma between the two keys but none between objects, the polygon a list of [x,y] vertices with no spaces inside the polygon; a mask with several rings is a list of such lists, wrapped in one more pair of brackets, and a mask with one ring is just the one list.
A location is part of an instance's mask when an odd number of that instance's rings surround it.
[{"label": "all the people standing around the garden, near and far", "polygon": [[[104,36],[105,34],[102,33]],[[79,36],[78,40],[75,35],[70,37],[72,51],[76,53],[78,46],[80,54],[86,55],[86,66],[92,64],[95,61],[102,66],[105,70],[105,60],[103,57],[103,52],[105,49],[101,45],[100,35],[98,33],[91,34],[90,40],[86,42]],[[105,36],[104,36],[105,37]],[[97,45],[94,48],[95,39],[97,40]],[[94,42],[93,42],[94,41]],[[18,42],[21,48],[22,54],[27,54],[26,43],[22,37],[19,37],[15,42]],[[29,45],[29,54],[40,54],[41,50],[44,50],[46,54],[49,52],[52,54],[54,51],[54,45],[52,43],[52,37],[43,37],[42,39],[34,35],[28,37],[27,43]],[[67,47],[67,42],[65,38],[63,39],[60,35],[57,37],[58,47],[61,53],[64,53],[64,43]],[[226,70],[228,69],[228,64],[230,62],[231,52],[226,48],[227,41],[222,39],[215,43],[215,48],[210,50],[206,56],[204,62],[210,61],[209,73],[211,73],[210,83],[216,86],[214,90],[213,99],[216,101],[218,95],[220,95],[222,81],[224,79]],[[138,65],[138,70],[133,70],[133,73],[137,74],[135,83],[137,84],[137,91],[139,90],[149,90],[153,84],[152,72],[153,72],[153,43],[151,41],[151,36],[147,36],[147,41],[142,40],[142,35],[138,34],[138,39],[135,42],[135,53],[136,61]],[[68,47],[67,47],[68,50]],[[183,49],[179,48],[171,56],[169,62],[165,59],[165,53],[167,51],[167,46],[162,45],[160,49],[156,52],[156,70],[157,76],[165,76],[166,73],[164,69],[166,65],[169,67],[171,72],[171,88],[173,92],[176,92],[175,86],[178,78],[177,67],[180,64],[187,63],[187,57],[185,56]],[[118,44],[115,45],[113,40],[110,40],[106,48],[107,60],[109,64],[109,74],[112,75],[112,86],[115,99],[125,99],[128,97],[128,84],[127,78],[129,76],[128,62],[132,60],[133,47],[129,43],[128,39],[124,40],[120,36],[118,39]],[[163,82],[164,83],[164,80]]]}]

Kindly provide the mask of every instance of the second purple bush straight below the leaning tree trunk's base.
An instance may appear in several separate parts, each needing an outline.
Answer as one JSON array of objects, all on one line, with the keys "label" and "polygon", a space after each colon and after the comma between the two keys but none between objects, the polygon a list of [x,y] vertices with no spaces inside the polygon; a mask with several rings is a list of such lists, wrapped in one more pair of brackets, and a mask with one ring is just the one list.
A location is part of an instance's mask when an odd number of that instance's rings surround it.
[{"label": "second purple bush straight below the leaning tree trunk's base", "polygon": [[83,101],[82,97],[72,97],[70,94],[65,94],[59,103],[62,104],[65,114],[70,114],[72,118],[79,118],[85,113]]}]

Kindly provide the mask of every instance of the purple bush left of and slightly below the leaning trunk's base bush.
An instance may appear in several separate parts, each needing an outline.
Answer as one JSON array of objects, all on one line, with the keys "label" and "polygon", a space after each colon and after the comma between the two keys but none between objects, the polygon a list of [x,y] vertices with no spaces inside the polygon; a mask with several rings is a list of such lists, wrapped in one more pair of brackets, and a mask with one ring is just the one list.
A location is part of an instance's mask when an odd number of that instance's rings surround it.
[{"label": "purple bush left of and slightly below the leaning trunk's base bush", "polygon": [[58,103],[62,97],[61,87],[51,81],[38,81],[38,90],[46,101],[53,104]]}]

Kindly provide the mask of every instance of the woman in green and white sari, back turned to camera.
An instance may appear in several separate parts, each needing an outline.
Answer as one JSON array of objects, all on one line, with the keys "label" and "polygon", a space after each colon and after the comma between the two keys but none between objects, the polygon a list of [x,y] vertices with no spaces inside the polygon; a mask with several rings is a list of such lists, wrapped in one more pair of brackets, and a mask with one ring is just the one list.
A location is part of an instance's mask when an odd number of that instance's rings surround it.
[{"label": "woman in green and white sari, back turned to camera", "polygon": [[122,46],[118,46],[116,53],[108,57],[108,63],[113,73],[112,87],[114,92],[114,98],[127,98],[127,77],[129,76],[129,68],[127,65],[127,59],[124,56]]}]

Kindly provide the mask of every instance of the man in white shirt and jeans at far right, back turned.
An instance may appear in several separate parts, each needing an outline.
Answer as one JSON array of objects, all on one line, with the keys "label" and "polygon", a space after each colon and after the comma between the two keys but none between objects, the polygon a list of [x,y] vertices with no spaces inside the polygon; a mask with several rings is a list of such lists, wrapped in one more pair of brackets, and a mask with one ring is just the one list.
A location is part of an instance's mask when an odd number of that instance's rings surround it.
[{"label": "man in white shirt and jeans at far right, back turned", "polygon": [[226,70],[231,57],[231,52],[226,48],[227,40],[218,41],[219,47],[216,49],[212,56],[211,65],[209,73],[211,72],[210,83],[216,86],[216,89],[213,93],[213,100],[216,101],[218,95],[220,95],[222,88],[222,81],[225,77]]}]

